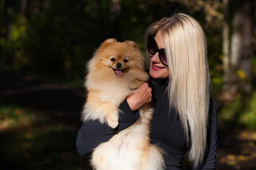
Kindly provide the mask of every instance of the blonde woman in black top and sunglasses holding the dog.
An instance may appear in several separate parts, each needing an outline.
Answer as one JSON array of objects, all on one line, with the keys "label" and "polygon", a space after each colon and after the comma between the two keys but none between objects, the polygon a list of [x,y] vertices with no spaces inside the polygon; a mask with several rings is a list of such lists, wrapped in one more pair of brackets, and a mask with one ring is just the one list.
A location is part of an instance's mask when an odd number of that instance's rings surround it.
[{"label": "blonde woman in black top and sunglasses holding the dog", "polygon": [[156,99],[151,139],[166,151],[167,170],[179,170],[184,157],[193,169],[215,169],[217,107],[210,97],[207,43],[200,24],[186,14],[164,17],[145,32],[151,81],[122,103],[119,127],[82,125],[80,155],[108,141],[139,119],[138,108]]}]

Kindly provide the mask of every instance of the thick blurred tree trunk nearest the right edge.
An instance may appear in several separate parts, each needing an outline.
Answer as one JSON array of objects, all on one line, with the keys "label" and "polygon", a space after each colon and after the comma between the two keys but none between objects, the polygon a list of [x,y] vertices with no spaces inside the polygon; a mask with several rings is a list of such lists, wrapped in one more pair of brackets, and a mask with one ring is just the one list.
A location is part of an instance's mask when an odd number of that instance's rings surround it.
[{"label": "thick blurred tree trunk nearest the right edge", "polygon": [[233,17],[229,88],[233,96],[252,91],[253,11],[254,0],[243,0]]}]

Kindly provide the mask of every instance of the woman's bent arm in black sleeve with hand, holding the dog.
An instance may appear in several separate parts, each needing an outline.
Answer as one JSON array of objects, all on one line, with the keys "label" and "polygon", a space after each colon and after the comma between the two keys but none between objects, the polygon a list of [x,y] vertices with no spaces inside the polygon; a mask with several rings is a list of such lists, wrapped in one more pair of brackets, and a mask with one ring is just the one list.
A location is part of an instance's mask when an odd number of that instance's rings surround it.
[{"label": "woman's bent arm in black sleeve with hand, holding the dog", "polygon": [[148,87],[148,83],[143,83],[119,106],[122,113],[119,113],[119,125],[115,129],[108,125],[102,125],[98,121],[84,123],[76,138],[78,153],[80,155],[90,153],[100,143],[107,142],[116,133],[133,125],[140,118],[137,109],[145,103],[151,102],[151,98],[151,88]]}]

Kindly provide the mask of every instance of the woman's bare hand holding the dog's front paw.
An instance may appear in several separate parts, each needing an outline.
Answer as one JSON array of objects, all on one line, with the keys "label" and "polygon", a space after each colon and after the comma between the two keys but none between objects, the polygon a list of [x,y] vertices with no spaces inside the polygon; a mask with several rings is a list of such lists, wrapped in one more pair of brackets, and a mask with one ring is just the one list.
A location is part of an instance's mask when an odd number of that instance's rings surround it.
[{"label": "woman's bare hand holding the dog's front paw", "polygon": [[133,94],[127,97],[128,105],[132,111],[137,110],[142,105],[151,102],[152,89],[148,87],[148,83],[144,82],[140,88],[136,89]]}]

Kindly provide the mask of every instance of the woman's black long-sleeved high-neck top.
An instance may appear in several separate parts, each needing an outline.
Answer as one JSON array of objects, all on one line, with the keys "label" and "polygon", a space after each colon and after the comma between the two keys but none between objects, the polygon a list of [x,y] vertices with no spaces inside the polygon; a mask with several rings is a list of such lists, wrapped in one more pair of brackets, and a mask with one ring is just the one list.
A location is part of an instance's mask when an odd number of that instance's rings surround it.
[{"label": "woman's black long-sleeved high-neck top", "polygon": [[[165,92],[167,88],[166,82],[166,79],[162,79],[161,82],[153,80],[149,82],[149,86],[152,88],[152,95],[156,100],[151,126],[151,140],[166,150],[167,170],[180,170],[186,153],[186,138],[175,110],[171,109],[170,113],[168,113],[169,99]],[[138,111],[132,112],[126,100],[120,105],[120,110],[124,114],[119,115],[119,126],[116,129],[112,129],[108,125],[102,125],[97,121],[82,125],[76,140],[76,147],[80,155],[90,153],[98,144],[108,141],[113,135],[131,126],[140,118],[140,113]],[[194,169],[215,169],[217,126],[217,106],[211,99],[204,164]]]}]

